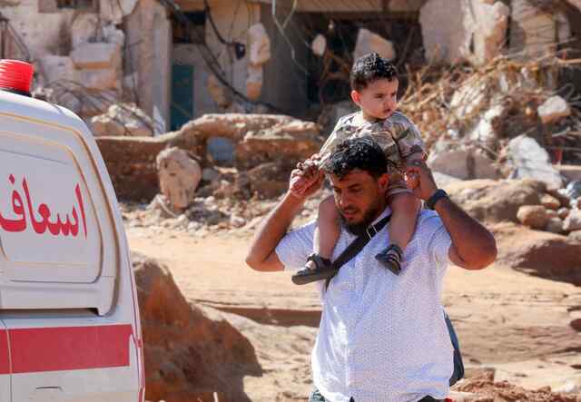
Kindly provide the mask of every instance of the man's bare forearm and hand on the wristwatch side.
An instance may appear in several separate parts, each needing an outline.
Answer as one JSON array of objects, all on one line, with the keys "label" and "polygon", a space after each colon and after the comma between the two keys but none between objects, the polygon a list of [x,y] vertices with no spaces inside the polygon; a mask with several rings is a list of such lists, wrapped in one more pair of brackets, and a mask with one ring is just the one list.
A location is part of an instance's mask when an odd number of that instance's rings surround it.
[{"label": "man's bare forearm and hand on the wristwatch side", "polygon": [[[406,171],[418,175],[419,186],[414,189],[414,193],[421,200],[428,200],[438,190],[425,162],[412,162]],[[466,270],[482,270],[496,260],[497,242],[492,233],[478,221],[448,197],[437,201],[435,210],[452,240],[448,257],[453,263]]]}]

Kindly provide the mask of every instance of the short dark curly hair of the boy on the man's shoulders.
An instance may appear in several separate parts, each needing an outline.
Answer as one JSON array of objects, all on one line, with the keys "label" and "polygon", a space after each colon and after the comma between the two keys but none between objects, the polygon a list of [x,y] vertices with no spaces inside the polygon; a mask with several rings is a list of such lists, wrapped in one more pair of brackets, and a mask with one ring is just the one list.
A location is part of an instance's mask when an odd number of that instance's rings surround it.
[{"label": "short dark curly hair of the boy on the man's shoulders", "polygon": [[397,80],[398,69],[388,59],[384,59],[375,52],[359,57],[351,67],[351,89],[355,91],[361,91],[369,83],[383,78],[389,81]]}]

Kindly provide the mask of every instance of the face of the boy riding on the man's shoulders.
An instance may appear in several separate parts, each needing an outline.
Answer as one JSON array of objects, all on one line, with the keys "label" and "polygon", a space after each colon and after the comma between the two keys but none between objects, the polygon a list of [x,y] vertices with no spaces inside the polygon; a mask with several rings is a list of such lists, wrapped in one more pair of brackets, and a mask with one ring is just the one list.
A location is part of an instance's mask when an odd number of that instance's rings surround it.
[{"label": "face of the boy riding on the man's shoulders", "polygon": [[387,119],[398,108],[398,79],[382,78],[361,91],[351,91],[351,99],[361,108],[366,117]]}]

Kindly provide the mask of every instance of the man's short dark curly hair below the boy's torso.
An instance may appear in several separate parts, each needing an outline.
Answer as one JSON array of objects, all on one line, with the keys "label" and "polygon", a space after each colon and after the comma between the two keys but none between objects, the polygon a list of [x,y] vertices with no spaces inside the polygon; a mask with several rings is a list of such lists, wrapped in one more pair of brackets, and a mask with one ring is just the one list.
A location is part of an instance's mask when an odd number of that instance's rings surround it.
[{"label": "man's short dark curly hair below the boy's torso", "polygon": [[375,179],[388,172],[389,160],[381,148],[369,137],[352,138],[340,142],[323,163],[322,170],[340,179],[355,169],[368,172]]}]

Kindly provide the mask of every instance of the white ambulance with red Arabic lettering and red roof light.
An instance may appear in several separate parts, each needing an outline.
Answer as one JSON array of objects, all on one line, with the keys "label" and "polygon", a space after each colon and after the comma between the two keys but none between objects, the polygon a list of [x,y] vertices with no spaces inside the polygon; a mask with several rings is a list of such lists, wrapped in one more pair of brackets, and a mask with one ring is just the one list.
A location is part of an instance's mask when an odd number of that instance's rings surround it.
[{"label": "white ambulance with red Arabic lettering and red roof light", "polygon": [[93,135],[0,60],[0,402],[143,402],[123,221]]}]

